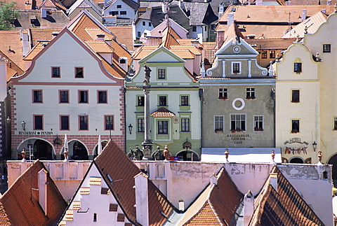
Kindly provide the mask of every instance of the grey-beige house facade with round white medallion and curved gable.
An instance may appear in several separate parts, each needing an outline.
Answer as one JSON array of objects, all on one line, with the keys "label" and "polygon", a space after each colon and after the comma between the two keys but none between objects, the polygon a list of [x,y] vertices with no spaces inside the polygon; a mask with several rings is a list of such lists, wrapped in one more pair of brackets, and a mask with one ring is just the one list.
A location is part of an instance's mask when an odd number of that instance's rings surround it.
[{"label": "grey-beige house facade with round white medallion and curved gable", "polygon": [[246,41],[227,40],[216,52],[215,66],[199,78],[202,153],[275,147],[275,77],[257,64],[258,52]]}]

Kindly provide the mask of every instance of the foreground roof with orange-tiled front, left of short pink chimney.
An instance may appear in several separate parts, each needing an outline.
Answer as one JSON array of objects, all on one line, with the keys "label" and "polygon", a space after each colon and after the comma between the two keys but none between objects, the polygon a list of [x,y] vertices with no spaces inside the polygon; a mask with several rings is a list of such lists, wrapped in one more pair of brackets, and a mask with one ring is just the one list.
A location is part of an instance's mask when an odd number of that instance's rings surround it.
[{"label": "foreground roof with orange-tiled front, left of short pink chimney", "polygon": [[[217,185],[209,185],[186,211],[182,225],[230,225],[242,198],[225,168],[218,174]],[[194,216],[191,213],[196,212]],[[185,220],[190,218],[189,220]]]}]

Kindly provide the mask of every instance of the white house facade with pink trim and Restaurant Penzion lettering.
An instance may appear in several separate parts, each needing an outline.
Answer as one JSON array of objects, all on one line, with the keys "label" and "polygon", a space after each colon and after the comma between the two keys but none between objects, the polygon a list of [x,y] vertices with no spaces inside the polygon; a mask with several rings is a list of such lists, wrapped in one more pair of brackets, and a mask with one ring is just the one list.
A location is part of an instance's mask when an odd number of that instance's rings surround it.
[{"label": "white house facade with pink trim and Restaurant Penzion lettering", "polygon": [[[102,40],[88,45],[111,48]],[[12,78],[13,159],[22,148],[36,159],[60,159],[65,134],[70,159],[92,159],[97,142],[88,138],[97,141],[99,135],[124,147],[123,70],[112,69],[106,51],[105,59],[91,49],[66,27],[26,57],[31,66]]]}]

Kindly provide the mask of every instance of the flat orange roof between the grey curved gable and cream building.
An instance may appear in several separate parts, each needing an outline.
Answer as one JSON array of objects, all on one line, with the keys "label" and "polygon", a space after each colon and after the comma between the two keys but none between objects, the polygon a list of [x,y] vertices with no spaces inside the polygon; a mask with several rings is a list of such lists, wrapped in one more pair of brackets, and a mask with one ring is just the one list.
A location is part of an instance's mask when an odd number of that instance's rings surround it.
[{"label": "flat orange roof between the grey curved gable and cream building", "polygon": [[256,50],[286,50],[296,38],[245,39]]}]

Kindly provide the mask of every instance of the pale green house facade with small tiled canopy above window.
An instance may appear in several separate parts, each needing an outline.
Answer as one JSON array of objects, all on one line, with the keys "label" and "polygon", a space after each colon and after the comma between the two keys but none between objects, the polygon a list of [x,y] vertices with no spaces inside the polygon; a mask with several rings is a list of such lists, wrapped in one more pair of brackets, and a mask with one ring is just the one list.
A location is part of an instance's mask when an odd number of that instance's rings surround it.
[{"label": "pale green house facade with small tiled canopy above window", "polygon": [[[157,49],[157,50],[156,50]],[[171,155],[183,160],[200,158],[200,102],[199,86],[185,69],[185,60],[164,46],[154,48],[138,62],[140,68],[130,82],[126,82],[126,125],[132,134],[126,135],[126,149],[140,146],[144,141],[143,64],[152,70],[150,76],[150,130],[152,153],[159,146],[168,146]],[[137,67],[138,69],[138,67]],[[187,152],[185,141],[192,143]],[[186,156],[188,153],[188,156]]]}]

